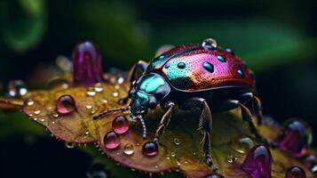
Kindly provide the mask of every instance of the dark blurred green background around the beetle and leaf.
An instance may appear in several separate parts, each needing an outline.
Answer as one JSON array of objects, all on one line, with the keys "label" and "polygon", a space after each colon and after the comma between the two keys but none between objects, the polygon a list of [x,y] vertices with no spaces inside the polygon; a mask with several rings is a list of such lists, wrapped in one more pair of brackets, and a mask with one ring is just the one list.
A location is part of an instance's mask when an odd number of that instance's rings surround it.
[{"label": "dark blurred green background around the beetle and leaf", "polygon": [[[313,0],[2,0],[0,88],[11,79],[36,87],[36,71],[99,45],[104,68],[150,61],[162,44],[213,37],[257,74],[265,114],[305,119],[317,135],[317,23]],[[19,113],[0,112],[0,177],[84,177],[90,158],[53,142]],[[314,139],[313,145],[317,142]]]}]

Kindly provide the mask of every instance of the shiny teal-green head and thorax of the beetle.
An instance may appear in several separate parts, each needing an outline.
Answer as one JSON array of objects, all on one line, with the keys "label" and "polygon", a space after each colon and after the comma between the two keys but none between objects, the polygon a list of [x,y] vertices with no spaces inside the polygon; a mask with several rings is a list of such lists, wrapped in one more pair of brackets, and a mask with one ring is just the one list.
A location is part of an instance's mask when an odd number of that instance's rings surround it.
[{"label": "shiny teal-green head and thorax of the beetle", "polygon": [[169,93],[170,85],[161,75],[148,73],[139,77],[130,93],[131,118],[147,114],[148,109],[155,109]]}]

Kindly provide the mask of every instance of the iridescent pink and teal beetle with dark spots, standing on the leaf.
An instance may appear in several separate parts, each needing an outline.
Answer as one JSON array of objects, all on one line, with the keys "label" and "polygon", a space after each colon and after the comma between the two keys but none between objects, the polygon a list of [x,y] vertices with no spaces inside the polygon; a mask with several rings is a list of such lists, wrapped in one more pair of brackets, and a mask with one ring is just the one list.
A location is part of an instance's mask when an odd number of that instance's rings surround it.
[{"label": "iridescent pink and teal beetle with dark spots, standing on the leaf", "polygon": [[[143,72],[140,77],[139,69]],[[255,93],[253,72],[230,49],[218,47],[216,41],[209,38],[202,44],[175,47],[149,64],[139,61],[131,69],[129,96],[121,100],[124,103],[131,99],[129,107],[106,110],[93,118],[129,109],[131,119],[141,122],[145,138],[147,127],[143,118],[148,109],[161,105],[166,113],[156,129],[153,142],[158,145],[176,105],[184,110],[202,109],[199,120],[199,129],[204,132],[202,149],[206,164],[216,169],[210,157],[212,112],[240,107],[251,132],[265,142],[252,123],[252,115],[258,117],[259,123],[262,117],[261,102]]]}]

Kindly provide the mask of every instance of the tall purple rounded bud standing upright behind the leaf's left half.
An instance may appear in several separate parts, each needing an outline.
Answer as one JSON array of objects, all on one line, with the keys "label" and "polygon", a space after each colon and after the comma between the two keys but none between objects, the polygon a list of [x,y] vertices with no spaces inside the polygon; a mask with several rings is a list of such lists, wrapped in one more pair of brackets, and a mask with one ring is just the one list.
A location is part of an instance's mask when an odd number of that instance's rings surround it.
[{"label": "tall purple rounded bud standing upright behind the leaf's left half", "polygon": [[74,85],[94,85],[103,82],[101,54],[89,41],[76,44],[72,53]]}]

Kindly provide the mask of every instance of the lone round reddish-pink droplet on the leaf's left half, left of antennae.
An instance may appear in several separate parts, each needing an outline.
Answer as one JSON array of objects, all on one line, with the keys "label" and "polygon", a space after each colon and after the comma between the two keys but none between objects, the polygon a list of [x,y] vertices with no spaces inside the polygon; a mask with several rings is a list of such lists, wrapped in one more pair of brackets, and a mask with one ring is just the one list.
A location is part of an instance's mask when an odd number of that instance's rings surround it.
[{"label": "lone round reddish-pink droplet on the leaf's left half, left of antennae", "polygon": [[71,95],[62,95],[56,103],[56,110],[59,114],[69,114],[75,110],[75,100]]}]

